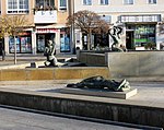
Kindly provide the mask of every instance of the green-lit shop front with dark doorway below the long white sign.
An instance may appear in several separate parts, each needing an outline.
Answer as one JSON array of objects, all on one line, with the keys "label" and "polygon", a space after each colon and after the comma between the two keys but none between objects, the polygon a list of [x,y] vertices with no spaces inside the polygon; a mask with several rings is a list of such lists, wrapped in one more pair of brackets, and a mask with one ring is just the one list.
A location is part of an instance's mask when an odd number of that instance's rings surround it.
[{"label": "green-lit shop front with dark doorway below the long white sign", "polygon": [[127,24],[127,49],[144,50],[148,44],[155,44],[155,24]]}]

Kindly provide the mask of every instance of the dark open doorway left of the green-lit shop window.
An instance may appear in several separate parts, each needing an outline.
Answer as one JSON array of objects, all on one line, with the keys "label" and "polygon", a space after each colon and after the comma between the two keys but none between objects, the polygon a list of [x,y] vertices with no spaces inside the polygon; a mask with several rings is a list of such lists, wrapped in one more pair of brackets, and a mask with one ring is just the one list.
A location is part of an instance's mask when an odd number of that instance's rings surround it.
[{"label": "dark open doorway left of the green-lit shop window", "polygon": [[134,49],[133,31],[126,32],[126,47],[128,50]]}]

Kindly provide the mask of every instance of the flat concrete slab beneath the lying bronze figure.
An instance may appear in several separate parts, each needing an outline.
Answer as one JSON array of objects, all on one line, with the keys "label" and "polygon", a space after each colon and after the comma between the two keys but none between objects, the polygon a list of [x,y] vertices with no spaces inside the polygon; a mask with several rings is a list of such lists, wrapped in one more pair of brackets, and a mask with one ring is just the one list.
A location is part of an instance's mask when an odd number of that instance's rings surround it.
[{"label": "flat concrete slab beneath the lying bronze figure", "polygon": [[86,95],[86,96],[101,96],[101,97],[109,97],[109,98],[121,98],[127,99],[131,96],[134,96],[138,93],[137,88],[131,88],[126,92],[114,92],[108,90],[89,90],[89,88],[58,88],[58,93],[62,94],[74,94],[74,95]]}]

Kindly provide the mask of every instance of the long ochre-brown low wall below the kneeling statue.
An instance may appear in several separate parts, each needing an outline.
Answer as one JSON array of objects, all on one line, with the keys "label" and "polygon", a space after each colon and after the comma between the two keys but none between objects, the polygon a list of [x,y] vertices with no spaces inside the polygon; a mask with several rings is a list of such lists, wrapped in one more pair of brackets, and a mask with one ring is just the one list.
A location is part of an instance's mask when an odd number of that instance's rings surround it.
[{"label": "long ochre-brown low wall below the kneeling statue", "polygon": [[72,67],[72,68],[27,68],[0,70],[0,81],[31,81],[31,80],[73,80],[93,75],[109,78],[109,70],[105,67]]}]

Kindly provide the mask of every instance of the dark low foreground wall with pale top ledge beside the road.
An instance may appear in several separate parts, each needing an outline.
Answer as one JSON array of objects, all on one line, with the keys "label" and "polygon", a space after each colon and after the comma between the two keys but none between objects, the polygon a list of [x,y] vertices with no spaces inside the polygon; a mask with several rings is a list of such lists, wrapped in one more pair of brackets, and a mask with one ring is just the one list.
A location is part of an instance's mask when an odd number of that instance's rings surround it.
[{"label": "dark low foreground wall with pale top ledge beside the road", "polygon": [[164,128],[164,104],[11,88],[0,88],[0,104]]}]

